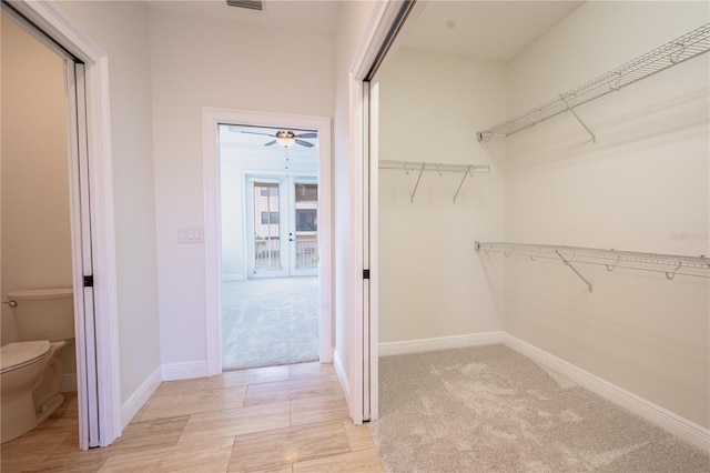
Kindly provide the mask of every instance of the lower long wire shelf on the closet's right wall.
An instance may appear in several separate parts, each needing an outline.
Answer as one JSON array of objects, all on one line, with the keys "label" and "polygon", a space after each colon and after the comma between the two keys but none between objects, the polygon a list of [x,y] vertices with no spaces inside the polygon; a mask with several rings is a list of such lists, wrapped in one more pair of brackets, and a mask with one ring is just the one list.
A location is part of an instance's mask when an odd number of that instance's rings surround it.
[{"label": "lower long wire shelf on the closet's right wall", "polygon": [[476,242],[476,251],[483,251],[485,254],[501,253],[505,256],[527,256],[532,261],[537,259],[561,261],[589,286],[590,292],[591,283],[577,271],[572,263],[602,265],[609,272],[617,268],[625,268],[665,273],[669,280],[676,275],[710,278],[710,259],[706,255],[688,256],[613,249],[478,241]]}]

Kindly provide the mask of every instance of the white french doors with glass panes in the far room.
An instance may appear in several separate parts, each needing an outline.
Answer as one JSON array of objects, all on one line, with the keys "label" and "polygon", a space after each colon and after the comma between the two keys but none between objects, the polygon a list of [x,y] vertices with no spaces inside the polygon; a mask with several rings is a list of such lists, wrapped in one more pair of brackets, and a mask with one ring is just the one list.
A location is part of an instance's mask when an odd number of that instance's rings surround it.
[{"label": "white french doors with glass panes in the far room", "polygon": [[318,274],[318,183],[313,175],[246,175],[247,278]]}]

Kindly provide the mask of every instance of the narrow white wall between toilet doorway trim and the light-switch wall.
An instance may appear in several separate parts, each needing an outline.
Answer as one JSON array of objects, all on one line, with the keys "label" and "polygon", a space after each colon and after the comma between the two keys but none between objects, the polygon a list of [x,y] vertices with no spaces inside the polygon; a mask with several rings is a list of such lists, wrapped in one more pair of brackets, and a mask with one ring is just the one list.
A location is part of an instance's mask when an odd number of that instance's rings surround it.
[{"label": "narrow white wall between toilet doorway trim and the light-switch wall", "polygon": [[[57,2],[109,57],[121,397],[160,366],[148,17],[142,2]],[[100,283],[100,282],[97,282]]]}]

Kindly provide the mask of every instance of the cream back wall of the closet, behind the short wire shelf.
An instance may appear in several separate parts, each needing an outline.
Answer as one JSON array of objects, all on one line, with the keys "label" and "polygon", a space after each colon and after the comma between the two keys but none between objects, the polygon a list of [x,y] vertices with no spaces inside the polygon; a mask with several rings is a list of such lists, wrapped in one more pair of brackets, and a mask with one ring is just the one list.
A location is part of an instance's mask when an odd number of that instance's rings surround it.
[{"label": "cream back wall of the closet, behind the short wire shelf", "polygon": [[501,240],[505,149],[475,130],[503,119],[505,68],[413,49],[378,72],[379,159],[489,164],[490,174],[379,171],[379,342],[500,330],[500,262],[485,266],[476,240]]}]

